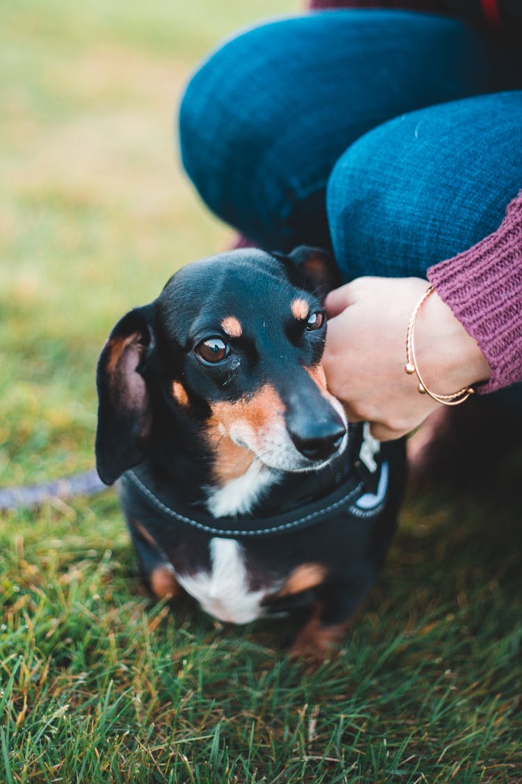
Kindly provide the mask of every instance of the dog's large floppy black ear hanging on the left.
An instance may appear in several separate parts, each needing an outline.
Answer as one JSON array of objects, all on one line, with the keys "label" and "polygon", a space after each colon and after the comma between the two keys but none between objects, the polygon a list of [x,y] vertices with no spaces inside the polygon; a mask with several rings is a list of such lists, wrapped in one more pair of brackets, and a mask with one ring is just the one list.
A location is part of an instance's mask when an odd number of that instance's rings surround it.
[{"label": "dog's large floppy black ear hanging on the left", "polygon": [[154,343],[152,305],[146,305],[118,321],[100,354],[95,452],[106,485],[145,457],[152,411],[142,371]]}]

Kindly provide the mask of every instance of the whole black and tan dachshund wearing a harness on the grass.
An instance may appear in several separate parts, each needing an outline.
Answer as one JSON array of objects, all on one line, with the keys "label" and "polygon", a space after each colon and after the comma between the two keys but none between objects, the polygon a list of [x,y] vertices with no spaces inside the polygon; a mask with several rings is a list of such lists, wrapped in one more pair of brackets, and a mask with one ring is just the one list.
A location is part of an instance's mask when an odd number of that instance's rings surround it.
[{"label": "whole black and tan dachshund wearing a harness on the grass", "polygon": [[178,271],[113,329],[96,458],[121,479],[143,578],[223,621],[299,611],[323,659],[375,579],[404,481],[401,442],[347,425],[321,367],[329,257],[235,250]]}]

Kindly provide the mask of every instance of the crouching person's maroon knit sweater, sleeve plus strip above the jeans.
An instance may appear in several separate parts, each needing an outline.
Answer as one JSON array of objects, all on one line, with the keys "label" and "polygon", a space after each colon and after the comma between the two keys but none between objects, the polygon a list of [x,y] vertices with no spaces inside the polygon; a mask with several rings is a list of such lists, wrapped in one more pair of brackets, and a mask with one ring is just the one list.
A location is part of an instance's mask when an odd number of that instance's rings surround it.
[{"label": "crouching person's maroon knit sweater, sleeve plus strip above the jeans", "polygon": [[[459,16],[497,34],[522,34],[520,0],[311,0],[310,8],[401,8]],[[522,183],[520,183],[522,186]],[[522,191],[489,237],[427,270],[427,278],[491,368],[481,394],[522,381]]]}]

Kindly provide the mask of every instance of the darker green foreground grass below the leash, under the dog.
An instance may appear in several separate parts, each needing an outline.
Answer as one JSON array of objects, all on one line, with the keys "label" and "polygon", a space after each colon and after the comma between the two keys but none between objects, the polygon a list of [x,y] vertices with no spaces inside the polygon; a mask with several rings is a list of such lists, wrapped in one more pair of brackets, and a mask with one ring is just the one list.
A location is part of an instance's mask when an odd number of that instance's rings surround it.
[{"label": "darker green foreground grass below the leash, under the dog", "polygon": [[284,625],[151,604],[112,495],[9,516],[12,780],[520,781],[518,521],[481,501],[409,504],[380,583],[317,672],[286,659]]}]

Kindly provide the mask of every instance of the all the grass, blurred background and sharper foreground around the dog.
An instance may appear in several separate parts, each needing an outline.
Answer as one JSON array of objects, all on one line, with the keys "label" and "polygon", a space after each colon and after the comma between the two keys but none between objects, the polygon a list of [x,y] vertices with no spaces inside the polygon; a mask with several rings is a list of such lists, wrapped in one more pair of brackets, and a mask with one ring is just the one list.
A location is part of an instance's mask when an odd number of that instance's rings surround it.
[{"label": "all the grass, blurred background and sharper foreground around the dog", "polygon": [[[221,35],[296,7],[0,8],[0,485],[92,466],[110,327],[229,241],[173,152],[182,85]],[[152,604],[113,492],[6,514],[0,782],[521,782],[521,464],[409,496],[316,672],[285,623]]]}]

